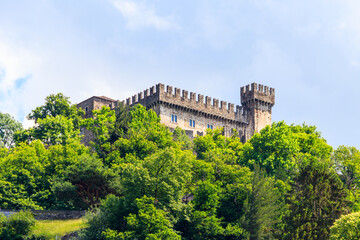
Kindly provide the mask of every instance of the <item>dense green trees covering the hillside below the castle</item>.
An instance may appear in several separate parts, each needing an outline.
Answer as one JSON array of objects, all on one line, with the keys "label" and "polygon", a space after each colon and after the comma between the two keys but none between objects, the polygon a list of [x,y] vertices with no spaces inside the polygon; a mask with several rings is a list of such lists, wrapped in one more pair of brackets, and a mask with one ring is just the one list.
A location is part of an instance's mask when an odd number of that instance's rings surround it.
[{"label": "dense green trees covering the hillside below the castle", "polygon": [[360,210],[360,152],[333,150],[314,126],[273,123],[243,144],[222,129],[191,141],[141,105],[83,114],[57,94],[33,128],[0,115],[0,208],[88,209],[80,237],[94,240],[352,234],[341,219]]}]

